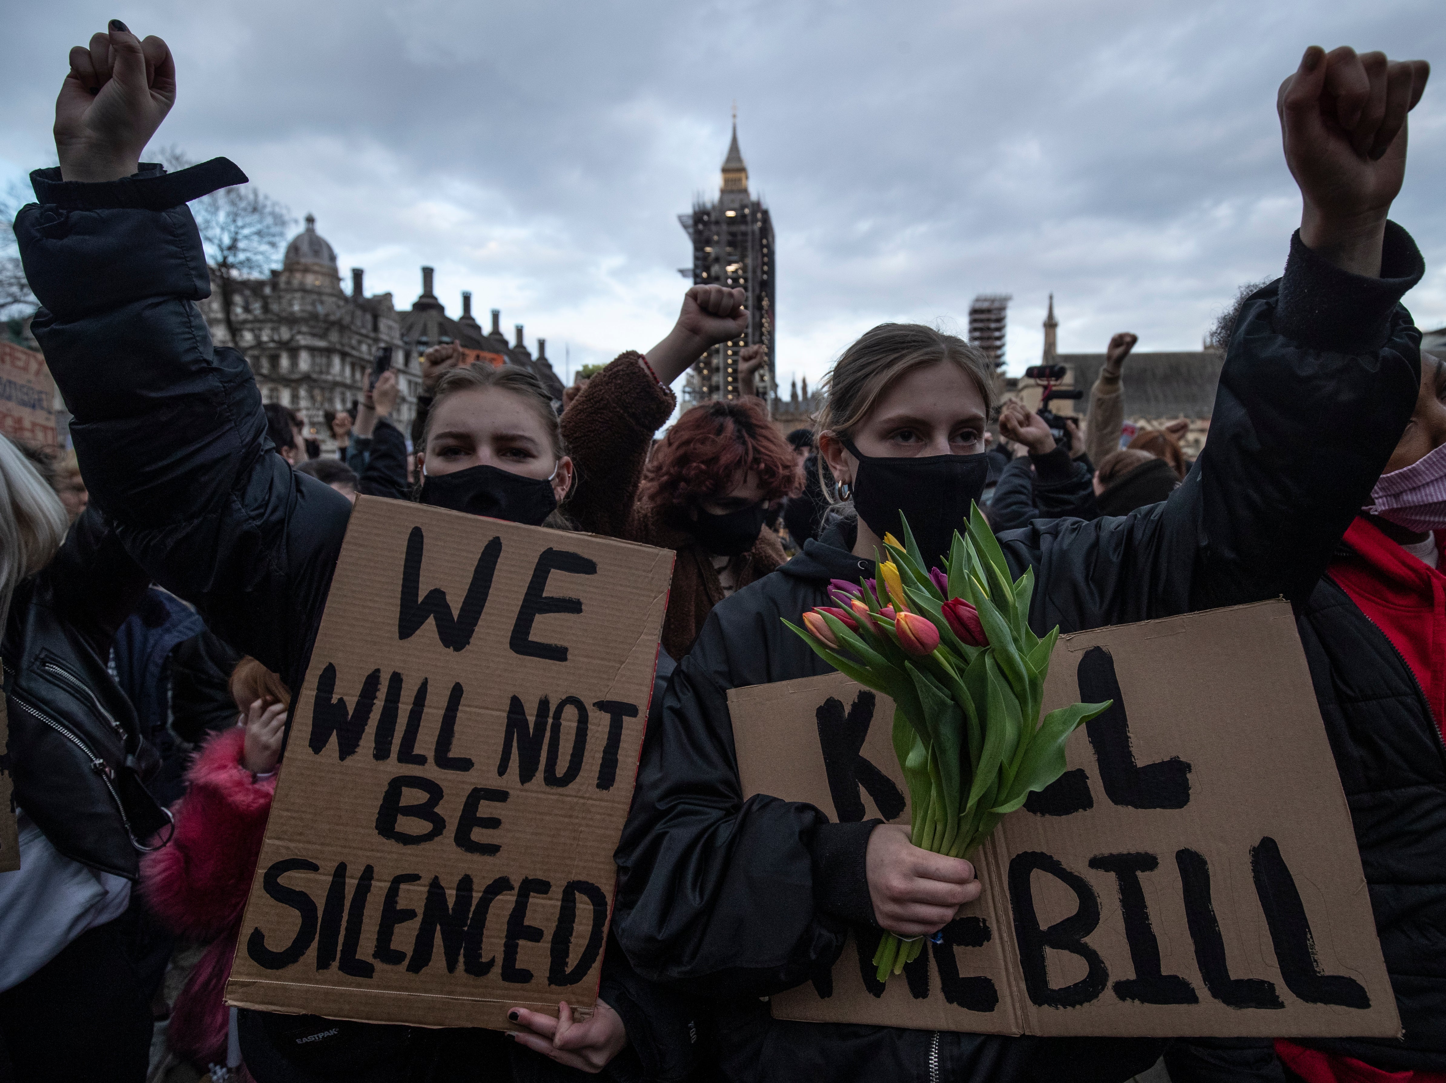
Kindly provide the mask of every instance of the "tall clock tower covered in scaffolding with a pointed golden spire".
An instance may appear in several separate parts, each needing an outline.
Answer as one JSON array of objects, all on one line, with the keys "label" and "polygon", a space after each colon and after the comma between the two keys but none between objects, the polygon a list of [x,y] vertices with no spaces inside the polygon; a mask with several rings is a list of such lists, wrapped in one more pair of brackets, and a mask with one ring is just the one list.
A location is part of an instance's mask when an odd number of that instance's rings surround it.
[{"label": "tall clock tower covered in scaffolding with a pointed golden spire", "polygon": [[693,202],[678,223],[693,241],[693,266],[678,273],[694,285],[739,286],[746,295],[748,331],[706,353],[688,370],[683,388],[684,405],[709,399],[736,399],[740,393],[737,366],[745,346],[768,347],[763,367],[753,376],[755,393],[765,401],[777,395],[774,343],[774,220],[761,198],[748,191],[748,166],[737,149],[737,120],[733,140],[723,159],[719,198]]}]

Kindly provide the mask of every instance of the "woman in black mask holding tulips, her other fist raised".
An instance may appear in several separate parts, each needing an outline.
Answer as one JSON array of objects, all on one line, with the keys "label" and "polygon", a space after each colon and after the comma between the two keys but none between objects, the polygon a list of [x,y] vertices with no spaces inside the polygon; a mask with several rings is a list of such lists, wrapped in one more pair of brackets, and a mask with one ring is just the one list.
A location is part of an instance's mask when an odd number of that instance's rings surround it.
[{"label": "woman in black mask holding tulips, her other fist raised", "polygon": [[[1366,59],[1307,49],[1281,88],[1301,228],[1284,276],[1257,291],[1236,322],[1210,442],[1190,476],[1129,516],[1037,521],[999,538],[1014,575],[1034,571],[1037,632],[1280,594],[1303,604],[1369,502],[1420,388],[1420,335],[1397,302],[1420,279],[1421,257],[1385,214],[1424,65]],[[1342,87],[1349,95],[1338,97]],[[1388,106],[1371,111],[1368,100]],[[856,519],[713,609],[668,685],[661,724],[648,729],[617,849],[613,930],[638,973],[716,999],[724,1080],[1118,1083],[1160,1054],[1163,1044],[1148,1040],[1002,1038],[769,1015],[772,993],[833,966],[850,927],[931,934],[979,896],[969,862],[912,847],[907,829],[831,823],[813,805],[746,797],[727,693],[829,672],[782,620],[826,604],[831,578],[872,575],[879,539],[898,529],[901,512],[925,555],[944,551],[983,490],[977,453],[993,386],[985,359],[927,327],[876,327],[850,346],[829,380],[818,444]],[[1361,685],[1333,685],[1327,674],[1320,687]],[[1410,930],[1417,940],[1420,928]],[[1429,1003],[1426,992],[1417,1003]],[[1421,1045],[1437,1041],[1433,1025],[1421,1028]]]}]

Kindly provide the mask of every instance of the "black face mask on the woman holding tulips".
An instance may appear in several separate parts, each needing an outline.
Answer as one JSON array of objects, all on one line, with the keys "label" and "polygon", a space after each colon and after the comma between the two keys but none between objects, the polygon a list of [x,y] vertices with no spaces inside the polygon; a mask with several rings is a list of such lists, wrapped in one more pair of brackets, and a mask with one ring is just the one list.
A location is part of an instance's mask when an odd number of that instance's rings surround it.
[{"label": "black face mask on the woman holding tulips", "polygon": [[852,440],[843,445],[859,460],[853,479],[853,508],[859,518],[879,538],[892,534],[902,544],[902,513],[924,561],[944,567],[954,531],[963,534],[969,505],[983,496],[989,460],[985,455],[889,458],[862,455]]}]

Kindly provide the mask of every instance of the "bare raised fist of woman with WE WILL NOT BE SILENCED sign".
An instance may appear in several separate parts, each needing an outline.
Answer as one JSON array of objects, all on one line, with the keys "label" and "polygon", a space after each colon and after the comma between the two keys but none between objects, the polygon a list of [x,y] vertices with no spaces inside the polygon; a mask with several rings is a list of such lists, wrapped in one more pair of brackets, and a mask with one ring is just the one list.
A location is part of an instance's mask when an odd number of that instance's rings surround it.
[{"label": "bare raised fist of woman with WE WILL NOT BE SILENCED sign", "polygon": [[117,181],[136,172],[140,152],[176,100],[176,65],[159,38],[140,40],[119,19],[90,48],[71,49],[71,71],[55,100],[55,152],[65,181]]}]

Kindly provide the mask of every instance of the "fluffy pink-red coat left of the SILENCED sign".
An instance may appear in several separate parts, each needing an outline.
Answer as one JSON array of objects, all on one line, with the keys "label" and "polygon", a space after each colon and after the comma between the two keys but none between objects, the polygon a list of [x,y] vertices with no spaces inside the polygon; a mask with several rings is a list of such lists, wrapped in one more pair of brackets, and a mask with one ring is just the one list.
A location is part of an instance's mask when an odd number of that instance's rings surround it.
[{"label": "fluffy pink-red coat left of the SILENCED sign", "polygon": [[146,855],[140,888],[156,915],[192,940],[211,940],[171,1015],[171,1047],[201,1063],[226,1060],[230,1014],[221,1002],[241,912],[260,856],[275,776],[254,781],[241,766],[244,730],[215,735],[187,774],[175,839]]}]

